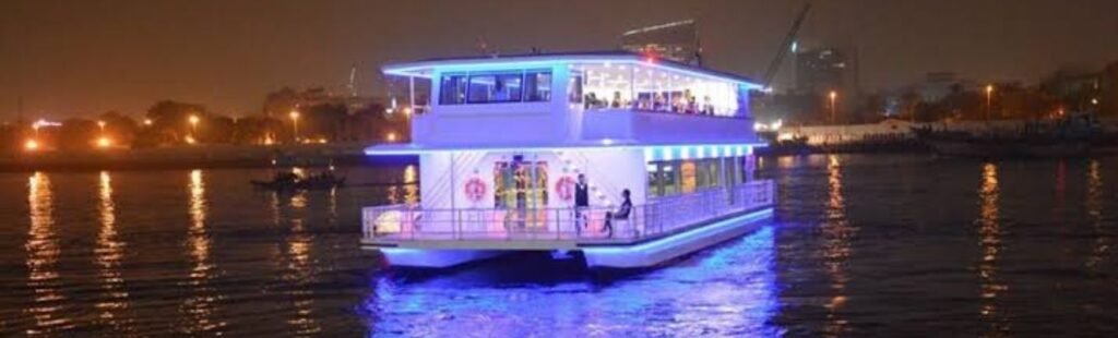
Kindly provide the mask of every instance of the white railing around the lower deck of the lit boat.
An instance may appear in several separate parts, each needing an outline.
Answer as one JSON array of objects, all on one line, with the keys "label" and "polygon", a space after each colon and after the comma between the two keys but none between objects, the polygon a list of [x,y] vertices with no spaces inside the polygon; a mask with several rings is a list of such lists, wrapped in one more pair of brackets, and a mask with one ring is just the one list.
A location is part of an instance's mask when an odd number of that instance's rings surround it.
[{"label": "white railing around the lower deck of the lit boat", "polygon": [[684,230],[718,218],[774,204],[773,181],[659,197],[635,205],[627,218],[617,207],[423,209],[396,204],[362,210],[362,228],[373,242],[533,241],[628,242]]}]

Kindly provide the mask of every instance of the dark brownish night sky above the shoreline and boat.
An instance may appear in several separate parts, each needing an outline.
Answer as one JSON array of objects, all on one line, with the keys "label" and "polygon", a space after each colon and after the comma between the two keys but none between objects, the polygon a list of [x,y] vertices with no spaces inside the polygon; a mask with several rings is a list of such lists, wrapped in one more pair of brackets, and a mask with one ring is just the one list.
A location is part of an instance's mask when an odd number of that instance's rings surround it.
[{"label": "dark brownish night sky above the shoreline and boat", "polygon": [[[1033,81],[1118,60],[1118,0],[818,0],[809,45],[860,46],[868,88],[949,70]],[[802,1],[0,1],[0,119],[144,112],[157,99],[258,110],[285,85],[383,95],[386,61],[608,49],[629,28],[697,17],[708,65],[757,76]]]}]

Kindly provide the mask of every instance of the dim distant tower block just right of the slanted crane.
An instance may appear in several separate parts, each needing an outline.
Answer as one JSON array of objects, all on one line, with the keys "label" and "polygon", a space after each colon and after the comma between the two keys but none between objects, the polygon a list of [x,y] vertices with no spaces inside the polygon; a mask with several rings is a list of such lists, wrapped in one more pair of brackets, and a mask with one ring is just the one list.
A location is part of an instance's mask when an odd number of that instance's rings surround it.
[{"label": "dim distant tower block just right of the slanted crane", "polygon": [[796,91],[826,93],[845,88],[846,57],[836,48],[796,52]]}]

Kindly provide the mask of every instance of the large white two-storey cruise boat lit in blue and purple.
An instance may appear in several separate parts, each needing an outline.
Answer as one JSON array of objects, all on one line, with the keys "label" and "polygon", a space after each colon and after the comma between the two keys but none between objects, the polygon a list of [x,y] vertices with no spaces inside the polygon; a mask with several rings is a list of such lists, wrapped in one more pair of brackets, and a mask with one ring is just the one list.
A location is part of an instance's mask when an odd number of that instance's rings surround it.
[{"label": "large white two-storey cruise boat lit in blue and purple", "polygon": [[[756,81],[629,52],[386,65],[408,84],[415,203],[361,210],[361,247],[442,269],[537,251],[646,269],[750,233],[776,186],[754,177]],[[416,93],[416,88],[428,88]],[[427,99],[424,98],[433,98]]]}]

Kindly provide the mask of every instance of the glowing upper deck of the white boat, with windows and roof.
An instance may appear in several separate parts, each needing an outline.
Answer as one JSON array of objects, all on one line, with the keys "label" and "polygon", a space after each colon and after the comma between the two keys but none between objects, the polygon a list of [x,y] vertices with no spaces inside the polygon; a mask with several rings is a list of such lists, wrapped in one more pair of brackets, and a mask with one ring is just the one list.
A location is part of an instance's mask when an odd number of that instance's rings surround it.
[{"label": "glowing upper deck of the white boat, with windows and roof", "polygon": [[635,54],[437,59],[383,73],[430,81],[410,99],[416,145],[756,142],[754,81]]}]

